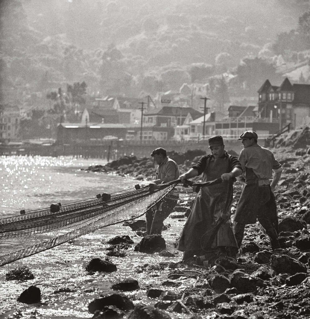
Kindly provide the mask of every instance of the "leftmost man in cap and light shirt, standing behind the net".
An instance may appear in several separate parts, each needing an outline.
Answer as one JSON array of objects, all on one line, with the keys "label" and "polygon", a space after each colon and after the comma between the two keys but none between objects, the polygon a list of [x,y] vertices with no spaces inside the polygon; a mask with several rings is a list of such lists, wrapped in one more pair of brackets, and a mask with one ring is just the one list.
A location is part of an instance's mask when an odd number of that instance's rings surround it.
[{"label": "leftmost man in cap and light shirt, standing behind the net", "polygon": [[[171,182],[179,178],[179,167],[173,159],[167,156],[167,152],[164,148],[155,148],[151,156],[155,163],[158,164],[158,167],[156,168],[155,180],[150,183],[150,187],[156,188],[158,184]],[[178,198],[178,192],[172,189],[165,198],[145,213],[147,235],[162,233],[163,221],[174,209]]]}]

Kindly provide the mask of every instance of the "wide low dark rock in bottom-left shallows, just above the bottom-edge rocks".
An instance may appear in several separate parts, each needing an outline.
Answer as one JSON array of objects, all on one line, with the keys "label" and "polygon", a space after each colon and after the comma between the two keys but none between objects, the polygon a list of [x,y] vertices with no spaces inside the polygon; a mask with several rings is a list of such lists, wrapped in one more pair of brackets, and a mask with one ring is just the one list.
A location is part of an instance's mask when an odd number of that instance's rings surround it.
[{"label": "wide low dark rock in bottom-left shallows, just above the bottom-edge rocks", "polygon": [[102,311],[106,306],[116,306],[117,308],[129,311],[134,308],[133,302],[122,294],[113,293],[110,296],[98,298],[90,302],[88,311],[94,314],[96,310]]}]

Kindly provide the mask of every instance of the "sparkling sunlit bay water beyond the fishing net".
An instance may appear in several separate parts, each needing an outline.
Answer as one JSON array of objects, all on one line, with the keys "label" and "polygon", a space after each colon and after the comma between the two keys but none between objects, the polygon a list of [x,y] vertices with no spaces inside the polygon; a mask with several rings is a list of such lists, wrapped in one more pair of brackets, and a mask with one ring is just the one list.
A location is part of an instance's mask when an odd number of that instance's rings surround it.
[{"label": "sparkling sunlit bay water beyond the fishing net", "polygon": [[89,174],[83,170],[99,164],[104,163],[72,157],[1,156],[0,215],[91,198],[99,192],[134,184],[133,180],[126,182],[120,176],[107,179],[106,174]]}]

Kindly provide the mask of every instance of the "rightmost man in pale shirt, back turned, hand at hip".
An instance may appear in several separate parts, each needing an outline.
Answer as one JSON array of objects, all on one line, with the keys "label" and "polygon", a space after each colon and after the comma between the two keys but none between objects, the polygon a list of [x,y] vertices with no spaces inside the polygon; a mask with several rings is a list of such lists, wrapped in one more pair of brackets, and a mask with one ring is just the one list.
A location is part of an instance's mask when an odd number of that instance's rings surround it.
[{"label": "rightmost man in pale shirt, back turned, hand at hip", "polygon": [[282,166],[269,149],[257,144],[256,132],[245,131],[238,139],[243,145],[239,155],[243,172],[240,177],[245,179],[233,224],[238,247],[242,244],[245,225],[256,223],[257,218],[270,238],[271,248],[280,248],[273,191],[281,177]]}]

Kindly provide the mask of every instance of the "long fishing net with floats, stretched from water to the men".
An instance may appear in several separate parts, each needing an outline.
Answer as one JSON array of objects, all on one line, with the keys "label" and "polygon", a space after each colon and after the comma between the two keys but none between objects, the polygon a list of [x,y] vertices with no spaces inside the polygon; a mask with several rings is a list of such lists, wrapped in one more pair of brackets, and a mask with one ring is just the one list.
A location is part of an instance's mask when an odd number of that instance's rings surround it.
[{"label": "long fishing net with floats, stretched from water to the men", "polygon": [[176,182],[113,193],[51,209],[0,219],[0,266],[51,249],[97,229],[141,217],[176,187]]}]

